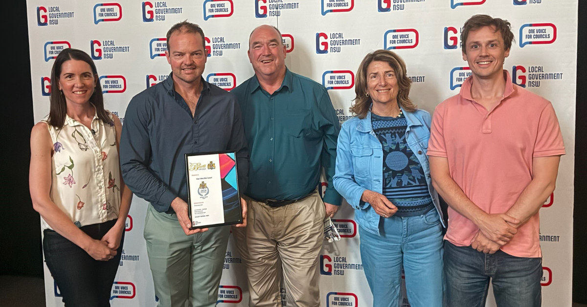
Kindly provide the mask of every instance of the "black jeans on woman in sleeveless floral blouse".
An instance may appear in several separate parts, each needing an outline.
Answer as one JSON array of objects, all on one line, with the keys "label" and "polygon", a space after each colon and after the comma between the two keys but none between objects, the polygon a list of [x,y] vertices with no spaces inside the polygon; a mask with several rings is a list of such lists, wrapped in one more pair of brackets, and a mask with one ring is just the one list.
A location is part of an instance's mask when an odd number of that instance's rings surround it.
[{"label": "black jeans on woman in sleeveless floral blouse", "polygon": [[[116,220],[81,227],[93,239],[102,239]],[[109,307],[110,291],[120,264],[124,232],[116,256],[97,261],[53,230],[43,231],[43,254],[66,307]]]}]

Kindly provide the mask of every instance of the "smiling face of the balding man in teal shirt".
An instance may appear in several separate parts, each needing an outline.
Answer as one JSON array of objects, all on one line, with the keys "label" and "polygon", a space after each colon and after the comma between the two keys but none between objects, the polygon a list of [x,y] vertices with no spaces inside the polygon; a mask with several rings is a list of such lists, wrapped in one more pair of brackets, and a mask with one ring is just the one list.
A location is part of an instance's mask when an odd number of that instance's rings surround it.
[{"label": "smiling face of the balding man in teal shirt", "polygon": [[272,26],[259,26],[249,38],[249,60],[255,75],[270,77],[285,70],[286,46]]}]

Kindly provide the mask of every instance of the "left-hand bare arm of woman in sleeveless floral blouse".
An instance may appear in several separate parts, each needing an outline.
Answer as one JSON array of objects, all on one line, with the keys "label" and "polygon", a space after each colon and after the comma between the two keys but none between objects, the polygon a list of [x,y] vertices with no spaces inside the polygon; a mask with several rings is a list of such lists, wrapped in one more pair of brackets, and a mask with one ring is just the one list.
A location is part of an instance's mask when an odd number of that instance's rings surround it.
[{"label": "left-hand bare arm of woman in sleeveless floral blouse", "polygon": [[65,212],[61,211],[49,197],[51,190],[51,153],[53,144],[47,125],[38,123],[31,131],[31,167],[29,171],[29,188],[33,208],[53,230],[69,241],[83,248],[96,260],[107,260],[116,251],[106,244],[90,238],[77,228]]}]

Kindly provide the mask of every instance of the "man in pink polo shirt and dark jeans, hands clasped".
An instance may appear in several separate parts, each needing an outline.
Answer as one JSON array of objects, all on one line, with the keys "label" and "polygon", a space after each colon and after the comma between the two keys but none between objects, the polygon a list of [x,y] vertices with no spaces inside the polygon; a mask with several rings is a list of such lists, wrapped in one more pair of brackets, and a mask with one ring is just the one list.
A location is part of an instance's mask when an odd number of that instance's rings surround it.
[{"label": "man in pink polo shirt and dark jeans, hands clasped", "polygon": [[432,120],[432,183],[450,207],[450,307],[484,307],[490,278],[498,307],[541,306],[538,210],[554,191],[565,147],[551,103],[504,70],[513,38],[499,18],[465,22],[463,60],[473,75]]}]

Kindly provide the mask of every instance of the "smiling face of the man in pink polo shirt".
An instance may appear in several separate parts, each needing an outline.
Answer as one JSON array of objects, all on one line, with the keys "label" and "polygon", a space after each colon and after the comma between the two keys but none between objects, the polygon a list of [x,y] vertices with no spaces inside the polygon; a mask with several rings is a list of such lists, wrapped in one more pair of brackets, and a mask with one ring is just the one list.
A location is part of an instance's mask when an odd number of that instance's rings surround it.
[{"label": "smiling face of the man in pink polo shirt", "polygon": [[470,31],[465,50],[463,60],[468,62],[473,75],[483,79],[501,77],[505,58],[510,55],[510,49],[505,50],[504,39],[494,26]]}]

